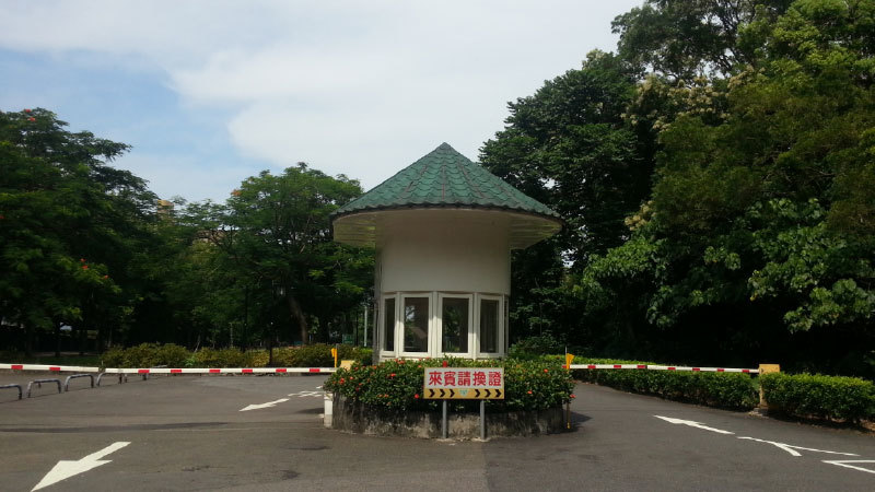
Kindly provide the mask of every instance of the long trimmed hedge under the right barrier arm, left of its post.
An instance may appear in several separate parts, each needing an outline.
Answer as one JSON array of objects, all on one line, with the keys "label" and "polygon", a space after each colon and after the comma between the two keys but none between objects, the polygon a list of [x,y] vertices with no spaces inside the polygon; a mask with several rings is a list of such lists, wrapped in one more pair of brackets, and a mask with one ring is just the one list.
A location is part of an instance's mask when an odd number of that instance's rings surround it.
[{"label": "long trimmed hedge under the right barrier arm, left of its post", "polygon": [[[642,361],[586,358],[574,358],[573,363],[661,365]],[[574,378],[583,382],[708,407],[750,410],[759,403],[759,395],[751,377],[740,373],[650,370],[575,370],[572,373]]]}]

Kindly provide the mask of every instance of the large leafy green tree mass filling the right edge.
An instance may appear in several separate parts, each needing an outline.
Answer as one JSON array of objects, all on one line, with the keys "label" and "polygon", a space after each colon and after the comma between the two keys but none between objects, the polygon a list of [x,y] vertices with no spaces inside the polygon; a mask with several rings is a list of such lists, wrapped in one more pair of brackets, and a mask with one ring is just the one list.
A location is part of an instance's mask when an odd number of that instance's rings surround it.
[{"label": "large leafy green tree mass filling the right edge", "polygon": [[591,309],[638,292],[643,302],[619,318],[638,335],[686,337],[687,352],[835,363],[853,348],[840,370],[866,373],[873,12],[872,1],[806,0],[738,26],[756,59],[705,81],[720,110],[677,104],[663,121],[649,210],[629,221],[632,239],[581,276]]}]

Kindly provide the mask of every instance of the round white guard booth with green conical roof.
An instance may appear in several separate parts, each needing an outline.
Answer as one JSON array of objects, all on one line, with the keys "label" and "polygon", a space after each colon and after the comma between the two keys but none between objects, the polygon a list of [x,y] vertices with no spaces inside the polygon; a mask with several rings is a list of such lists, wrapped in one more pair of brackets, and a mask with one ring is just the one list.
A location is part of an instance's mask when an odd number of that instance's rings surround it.
[{"label": "round white guard booth with green conical roof", "polygon": [[376,250],[380,359],[508,353],[511,250],[559,214],[446,143],[338,209],[337,242]]}]

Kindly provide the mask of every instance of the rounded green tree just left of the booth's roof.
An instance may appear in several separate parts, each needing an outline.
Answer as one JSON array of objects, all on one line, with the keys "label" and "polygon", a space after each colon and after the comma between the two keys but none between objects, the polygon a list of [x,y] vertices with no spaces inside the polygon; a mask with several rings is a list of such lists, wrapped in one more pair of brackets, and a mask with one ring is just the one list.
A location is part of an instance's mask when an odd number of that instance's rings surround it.
[{"label": "rounded green tree just left of the booth's roof", "polygon": [[288,325],[308,343],[311,318],[323,319],[324,330],[331,316],[366,295],[372,254],[334,243],[329,220],[360,194],[358,181],[300,163],[281,175],[247,178],[225,206],[201,210],[206,237],[229,257],[235,274],[247,279],[247,296],[260,300],[254,316],[270,343]]}]

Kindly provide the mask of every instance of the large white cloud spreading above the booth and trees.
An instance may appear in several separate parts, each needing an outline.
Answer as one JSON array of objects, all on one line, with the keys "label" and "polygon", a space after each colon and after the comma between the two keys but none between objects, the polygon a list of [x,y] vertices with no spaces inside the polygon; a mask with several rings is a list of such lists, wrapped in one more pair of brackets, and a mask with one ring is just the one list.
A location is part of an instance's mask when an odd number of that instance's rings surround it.
[{"label": "large white cloud spreading above the booth and trees", "polygon": [[0,47],[147,60],[186,110],[228,109],[242,155],[370,188],[442,141],[476,160],[640,1],[13,1]]}]

